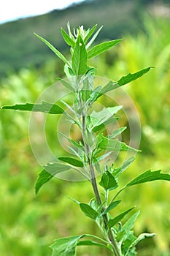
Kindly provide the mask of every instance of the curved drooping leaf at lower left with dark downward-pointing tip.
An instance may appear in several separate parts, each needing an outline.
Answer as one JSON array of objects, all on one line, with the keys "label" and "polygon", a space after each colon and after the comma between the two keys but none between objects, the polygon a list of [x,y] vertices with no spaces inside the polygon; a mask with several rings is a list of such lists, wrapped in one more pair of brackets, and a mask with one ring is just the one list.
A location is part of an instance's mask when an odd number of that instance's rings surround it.
[{"label": "curved drooping leaf at lower left with dark downward-pointing tip", "polygon": [[39,177],[36,180],[36,194],[39,192],[39,189],[42,187],[42,185],[44,185],[47,181],[50,181],[53,176],[55,176],[57,173],[69,170],[70,168],[72,167],[69,165],[63,165],[59,162],[47,163],[47,165],[44,165],[44,168],[41,170]]}]

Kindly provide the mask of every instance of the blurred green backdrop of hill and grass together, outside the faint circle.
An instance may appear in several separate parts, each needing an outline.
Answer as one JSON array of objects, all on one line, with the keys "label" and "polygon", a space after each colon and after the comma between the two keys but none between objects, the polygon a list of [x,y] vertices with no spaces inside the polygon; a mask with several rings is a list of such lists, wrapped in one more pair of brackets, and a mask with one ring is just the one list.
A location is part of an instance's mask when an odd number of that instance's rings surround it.
[{"label": "blurred green backdrop of hill and grass together, outside the faint circle", "polygon": [[[114,49],[91,61],[97,75],[117,80],[128,72],[155,66],[144,78],[125,86],[134,100],[142,125],[140,148],[122,184],[144,170],[168,172],[170,167],[170,6],[169,1],[85,1],[47,15],[0,26],[0,105],[35,102],[39,94],[63,77],[63,64],[34,38],[46,37],[65,54],[61,26],[104,23],[98,40],[123,37]],[[133,115],[133,113],[132,113]],[[50,118],[49,118],[50,122]],[[125,120],[122,122],[125,123]],[[31,152],[29,113],[0,112],[0,254],[50,256],[53,239],[82,233],[98,234],[96,225],[78,211],[69,197],[88,203],[93,191],[87,182],[53,179],[34,194],[41,167]],[[51,128],[50,128],[51,127]],[[54,143],[53,121],[48,138]],[[61,151],[61,154],[63,152]],[[141,209],[136,235],[157,233],[141,242],[141,256],[170,255],[170,201],[166,181],[140,185],[122,194],[113,214],[136,205]],[[78,248],[77,255],[110,255],[101,249]]]}]

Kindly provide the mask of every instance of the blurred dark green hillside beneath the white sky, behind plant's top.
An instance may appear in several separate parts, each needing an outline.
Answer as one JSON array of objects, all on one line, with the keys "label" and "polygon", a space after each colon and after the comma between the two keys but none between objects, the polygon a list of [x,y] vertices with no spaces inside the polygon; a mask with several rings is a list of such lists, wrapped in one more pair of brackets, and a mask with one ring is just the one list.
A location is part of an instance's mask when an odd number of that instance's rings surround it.
[{"label": "blurred dark green hillside beneath the white sky, behind plant's top", "polygon": [[[20,67],[39,66],[53,53],[34,36],[34,32],[52,42],[59,50],[66,45],[61,37],[61,26],[91,27],[104,25],[101,39],[115,39],[126,33],[136,33],[140,15],[148,1],[91,0],[73,5],[66,10],[54,10],[45,15],[25,18],[0,26],[0,76]],[[150,1],[149,1],[150,2]]]}]

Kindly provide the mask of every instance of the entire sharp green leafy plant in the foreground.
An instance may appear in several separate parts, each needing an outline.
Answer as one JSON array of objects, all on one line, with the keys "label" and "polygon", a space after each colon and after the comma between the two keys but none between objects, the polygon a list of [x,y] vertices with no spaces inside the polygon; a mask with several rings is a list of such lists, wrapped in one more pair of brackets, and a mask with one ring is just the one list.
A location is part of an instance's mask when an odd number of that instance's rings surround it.
[{"label": "entire sharp green leafy plant in the foreground", "polygon": [[[88,30],[80,26],[76,31],[74,30],[74,34],[72,34],[69,23],[69,34],[61,29],[63,39],[65,39],[66,43],[71,47],[71,61],[67,60],[50,42],[47,42],[47,40],[36,34],[36,36],[39,37],[42,42],[45,42],[45,44],[65,63],[64,71],[68,80],[60,81],[63,83],[63,86],[69,89],[74,95],[73,105],[69,105],[62,100],[58,103],[59,105],[51,102],[42,102],[40,104],[26,103],[1,107],[1,109],[26,110],[53,115],[63,114],[69,118],[69,121],[80,131],[80,140],[67,138],[70,143],[69,147],[74,153],[74,157],[58,157],[58,162],[47,162],[47,164],[44,165],[36,181],[36,194],[43,184],[50,181],[50,179],[58,173],[63,173],[70,169],[72,169],[73,172],[80,173],[83,178],[87,179],[91,184],[94,197],[90,200],[90,203],[81,203],[78,200],[72,200],[80,206],[85,216],[96,222],[103,238],[89,234],[59,238],[50,246],[53,249],[53,256],[73,256],[76,252],[76,246],[100,246],[108,249],[112,255],[116,256],[136,255],[136,244],[142,239],[152,237],[155,234],[142,233],[138,237],[134,236],[132,228],[139,215],[139,211],[136,211],[122,225],[121,221],[123,217],[125,217],[129,211],[132,211],[134,206],[114,217],[110,215],[110,211],[120,204],[121,200],[117,200],[117,196],[120,195],[124,189],[148,181],[170,180],[168,173],[161,173],[161,170],[147,170],[120,189],[118,188],[120,175],[134,162],[134,157],[125,160],[120,167],[115,167],[115,161],[112,159],[111,153],[119,153],[120,151],[136,153],[138,150],[127,146],[117,139],[117,135],[120,135],[126,127],[120,127],[114,130],[112,134],[107,133],[107,124],[117,121],[115,114],[122,106],[103,108],[96,112],[93,110],[93,104],[99,97],[102,97],[109,91],[115,90],[132,80],[140,78],[142,75],[149,72],[151,67],[147,67],[133,74],[129,73],[120,78],[117,82],[109,81],[109,83],[103,87],[99,85],[94,88],[93,80],[96,69],[94,67],[88,67],[88,59],[98,56],[100,53],[112,48],[121,41],[121,39],[116,39],[109,42],[102,42],[91,47],[101,28],[98,29],[96,33],[95,30],[96,26]],[[65,106],[67,110],[64,110],[61,105]],[[100,164],[102,161],[105,161],[104,166]],[[109,164],[109,162],[111,162],[111,164]],[[100,181],[98,181],[96,176],[101,176]],[[103,190],[102,193],[100,189],[98,189],[98,185]],[[113,190],[115,190],[115,195],[112,195]],[[110,194],[112,199],[110,199]]]}]

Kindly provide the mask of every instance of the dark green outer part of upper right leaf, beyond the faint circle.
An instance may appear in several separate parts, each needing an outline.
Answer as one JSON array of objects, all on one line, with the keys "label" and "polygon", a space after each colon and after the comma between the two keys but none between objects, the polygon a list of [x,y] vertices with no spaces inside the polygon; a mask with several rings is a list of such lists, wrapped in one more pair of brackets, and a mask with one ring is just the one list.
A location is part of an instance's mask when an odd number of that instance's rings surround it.
[{"label": "dark green outer part of upper right leaf, beyond the faint circle", "polygon": [[142,77],[142,75],[146,74],[148,71],[150,71],[150,69],[153,67],[147,67],[145,69],[142,69],[134,74],[129,73],[128,75],[123,76],[122,78],[120,78],[120,80],[118,80],[118,85],[119,86],[123,86],[126,83],[130,83],[133,80],[136,80],[137,78]]}]

